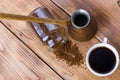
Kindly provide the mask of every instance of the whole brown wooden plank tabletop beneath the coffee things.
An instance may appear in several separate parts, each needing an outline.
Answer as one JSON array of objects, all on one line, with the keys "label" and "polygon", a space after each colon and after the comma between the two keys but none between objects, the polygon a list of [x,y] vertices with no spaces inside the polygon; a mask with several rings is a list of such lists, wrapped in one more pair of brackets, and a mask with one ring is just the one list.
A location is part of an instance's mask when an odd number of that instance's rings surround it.
[{"label": "whole brown wooden plank tabletop beneath the coffee things", "polygon": [[[0,0],[0,12],[28,15],[45,6],[58,19],[69,20],[76,9],[86,9],[97,19],[98,32],[77,42],[84,57],[106,36],[120,53],[120,3],[118,0]],[[120,80],[120,67],[108,77],[97,77],[85,66],[69,67],[43,46],[26,22],[0,19],[0,80]]]}]

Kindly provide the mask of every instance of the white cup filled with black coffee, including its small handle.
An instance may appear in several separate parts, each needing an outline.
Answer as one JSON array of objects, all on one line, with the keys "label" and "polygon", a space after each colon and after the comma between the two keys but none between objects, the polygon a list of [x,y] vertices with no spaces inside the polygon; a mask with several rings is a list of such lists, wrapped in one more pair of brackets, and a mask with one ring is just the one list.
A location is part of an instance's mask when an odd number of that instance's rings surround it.
[{"label": "white cup filled with black coffee, including its small handle", "polygon": [[103,43],[95,44],[88,50],[86,65],[93,74],[108,76],[118,68],[119,54],[105,37]]}]

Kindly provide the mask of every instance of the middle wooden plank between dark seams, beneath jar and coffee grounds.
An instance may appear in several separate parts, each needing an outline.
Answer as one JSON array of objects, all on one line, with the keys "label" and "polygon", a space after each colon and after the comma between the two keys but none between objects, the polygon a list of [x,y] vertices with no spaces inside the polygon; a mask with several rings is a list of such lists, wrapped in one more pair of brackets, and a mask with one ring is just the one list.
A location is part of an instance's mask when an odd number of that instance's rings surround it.
[{"label": "middle wooden plank between dark seams, beneath jar and coffee grounds", "polygon": [[[11,4],[6,6],[6,4]],[[21,7],[22,5],[22,7]],[[3,0],[3,3],[0,3],[0,9],[2,12],[15,13],[15,14],[24,14],[28,15],[32,10],[40,7],[41,5],[46,6],[51,10],[52,13],[58,19],[69,20],[69,16],[65,15],[62,10],[56,7],[49,0]],[[24,7],[24,8],[23,8]],[[4,9],[5,8],[5,9]],[[16,12],[15,12],[16,11]],[[58,74],[60,74],[66,80],[108,80],[109,78],[100,78],[91,74],[87,69],[78,66],[69,67],[64,61],[57,61],[56,57],[52,52],[49,52],[46,46],[43,46],[39,37],[35,33],[34,29],[31,28],[25,22],[12,21],[12,20],[2,20],[7,28],[10,29],[19,39],[21,39],[28,47],[30,47],[37,55],[39,55],[49,66],[51,66]],[[73,42],[77,43],[84,57],[86,56],[87,50],[98,43],[96,38],[91,39],[87,42]],[[119,73],[117,71],[116,73]],[[118,74],[114,74],[115,77]],[[111,76],[114,77],[114,76]],[[117,77],[118,78],[118,77]],[[113,79],[113,78],[112,78]]]}]

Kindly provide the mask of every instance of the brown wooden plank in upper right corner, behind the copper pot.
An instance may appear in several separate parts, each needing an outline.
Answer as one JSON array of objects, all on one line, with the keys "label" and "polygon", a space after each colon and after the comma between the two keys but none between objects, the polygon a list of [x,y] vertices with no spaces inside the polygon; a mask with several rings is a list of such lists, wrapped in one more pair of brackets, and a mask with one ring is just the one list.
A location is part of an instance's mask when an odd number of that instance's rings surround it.
[{"label": "brown wooden plank in upper right corner, behind the copper pot", "polygon": [[[110,43],[120,50],[120,7],[119,0],[52,0],[69,15],[76,9],[86,9],[97,19],[98,32],[96,38],[108,37]],[[69,7],[68,5],[69,4]],[[117,36],[113,36],[117,35]],[[120,52],[120,51],[119,51]]]}]

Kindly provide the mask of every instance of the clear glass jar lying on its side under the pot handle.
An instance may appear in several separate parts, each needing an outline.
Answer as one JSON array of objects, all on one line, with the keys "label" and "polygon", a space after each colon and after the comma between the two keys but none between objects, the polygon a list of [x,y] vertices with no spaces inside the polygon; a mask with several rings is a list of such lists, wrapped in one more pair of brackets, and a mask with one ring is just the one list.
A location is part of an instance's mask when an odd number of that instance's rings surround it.
[{"label": "clear glass jar lying on its side under the pot handle", "polygon": [[[30,16],[39,18],[54,18],[50,11],[45,7],[35,9]],[[30,24],[34,27],[42,43],[48,45],[49,47],[53,47],[57,43],[63,44],[67,41],[65,28],[63,26],[35,22],[30,22]]]}]

